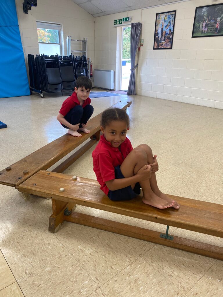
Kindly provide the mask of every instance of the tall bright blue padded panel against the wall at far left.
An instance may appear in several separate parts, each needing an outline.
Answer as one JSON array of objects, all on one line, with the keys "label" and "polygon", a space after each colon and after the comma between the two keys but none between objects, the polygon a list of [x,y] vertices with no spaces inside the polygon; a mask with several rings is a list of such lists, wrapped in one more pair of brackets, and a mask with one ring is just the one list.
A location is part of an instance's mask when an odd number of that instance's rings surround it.
[{"label": "tall bright blue padded panel against the wall at far left", "polygon": [[30,95],[15,0],[0,2],[0,98]]}]

